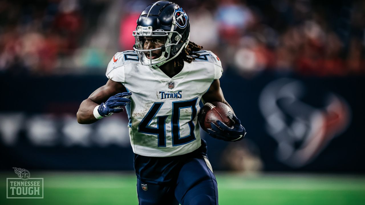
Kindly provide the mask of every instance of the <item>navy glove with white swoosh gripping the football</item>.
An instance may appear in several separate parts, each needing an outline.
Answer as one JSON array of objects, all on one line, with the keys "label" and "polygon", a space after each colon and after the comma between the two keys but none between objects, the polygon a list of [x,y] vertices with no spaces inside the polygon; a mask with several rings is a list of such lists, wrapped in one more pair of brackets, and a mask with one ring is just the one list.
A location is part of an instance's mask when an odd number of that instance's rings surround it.
[{"label": "navy glove with white swoosh gripping the football", "polygon": [[218,126],[211,123],[212,129],[207,129],[208,134],[215,139],[224,141],[236,142],[242,140],[246,135],[246,130],[236,116],[233,116],[232,120],[234,121],[233,128],[228,127],[220,120],[216,121]]}]

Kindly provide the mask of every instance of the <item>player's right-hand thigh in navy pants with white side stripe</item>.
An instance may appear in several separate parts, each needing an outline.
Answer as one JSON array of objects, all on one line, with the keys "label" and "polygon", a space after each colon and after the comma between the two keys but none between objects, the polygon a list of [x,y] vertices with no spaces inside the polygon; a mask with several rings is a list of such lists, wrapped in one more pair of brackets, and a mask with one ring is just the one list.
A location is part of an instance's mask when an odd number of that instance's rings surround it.
[{"label": "player's right-hand thigh in navy pants with white side stripe", "polygon": [[218,187],[208,159],[189,160],[181,168],[175,196],[182,205],[217,205]]}]

